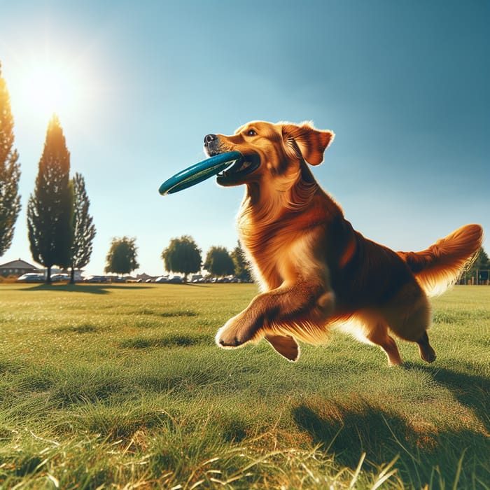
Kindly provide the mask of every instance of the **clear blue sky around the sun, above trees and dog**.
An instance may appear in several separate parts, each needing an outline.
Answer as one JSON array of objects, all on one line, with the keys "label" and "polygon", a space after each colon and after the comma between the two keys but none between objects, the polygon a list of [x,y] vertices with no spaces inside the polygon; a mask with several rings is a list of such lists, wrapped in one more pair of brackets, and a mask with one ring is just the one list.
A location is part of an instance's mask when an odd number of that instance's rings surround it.
[{"label": "clear blue sky around the sun, above trees and dog", "polygon": [[489,22],[484,0],[0,0],[22,165],[22,212],[0,262],[31,261],[25,210],[49,114],[24,80],[39,65],[66,69],[77,89],[48,109],[91,200],[87,273],[123,235],[148,274],[164,271],[173,237],[192,235],[203,259],[235,247],[243,188],[158,187],[204,159],[205,134],[257,119],[336,133],[314,175],[374,241],[419,250],[465,223],[489,230]]}]

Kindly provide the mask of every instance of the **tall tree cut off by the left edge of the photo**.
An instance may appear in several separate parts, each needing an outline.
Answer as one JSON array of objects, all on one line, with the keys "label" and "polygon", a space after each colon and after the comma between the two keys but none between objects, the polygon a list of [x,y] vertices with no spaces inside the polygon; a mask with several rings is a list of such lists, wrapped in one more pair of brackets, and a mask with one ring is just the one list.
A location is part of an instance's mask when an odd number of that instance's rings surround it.
[{"label": "tall tree cut off by the left edge of the photo", "polygon": [[1,76],[0,63],[0,257],[12,244],[14,225],[20,211],[20,164],[13,139],[10,96]]}]

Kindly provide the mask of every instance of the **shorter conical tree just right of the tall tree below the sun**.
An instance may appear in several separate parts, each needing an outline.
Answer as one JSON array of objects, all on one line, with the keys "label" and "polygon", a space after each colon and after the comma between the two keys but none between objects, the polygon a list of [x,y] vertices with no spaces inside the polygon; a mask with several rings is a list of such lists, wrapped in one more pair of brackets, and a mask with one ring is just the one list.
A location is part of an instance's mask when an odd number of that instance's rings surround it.
[{"label": "shorter conical tree just right of the tall tree below the sun", "polygon": [[75,269],[88,264],[92,255],[92,241],[95,237],[93,218],[88,213],[90,201],[85,190],[85,179],[76,173],[71,180],[73,186],[73,244],[71,246],[71,279],[75,282]]}]

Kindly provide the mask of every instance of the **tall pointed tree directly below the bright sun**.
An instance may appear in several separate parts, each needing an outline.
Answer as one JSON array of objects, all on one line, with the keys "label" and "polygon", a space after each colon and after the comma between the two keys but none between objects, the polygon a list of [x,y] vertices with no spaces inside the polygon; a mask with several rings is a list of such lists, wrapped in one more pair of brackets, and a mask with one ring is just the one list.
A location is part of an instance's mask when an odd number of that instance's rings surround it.
[{"label": "tall pointed tree directly below the bright sun", "polygon": [[27,226],[32,257],[48,269],[69,267],[73,243],[73,189],[69,186],[70,153],[59,119],[48,125],[43,155],[39,160],[34,194],[27,204]]}]

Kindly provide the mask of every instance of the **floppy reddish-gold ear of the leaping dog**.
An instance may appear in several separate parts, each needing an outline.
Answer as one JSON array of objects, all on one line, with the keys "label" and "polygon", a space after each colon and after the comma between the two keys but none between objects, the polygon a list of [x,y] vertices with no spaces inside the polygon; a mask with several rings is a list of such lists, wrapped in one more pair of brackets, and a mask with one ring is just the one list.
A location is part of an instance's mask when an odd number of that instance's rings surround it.
[{"label": "floppy reddish-gold ear of the leaping dog", "polygon": [[292,149],[297,153],[299,149],[302,158],[310,165],[320,165],[323,162],[323,153],[332,143],[335,134],[331,131],[316,130],[309,123],[302,123],[300,126],[283,124],[282,137],[286,150]]}]

